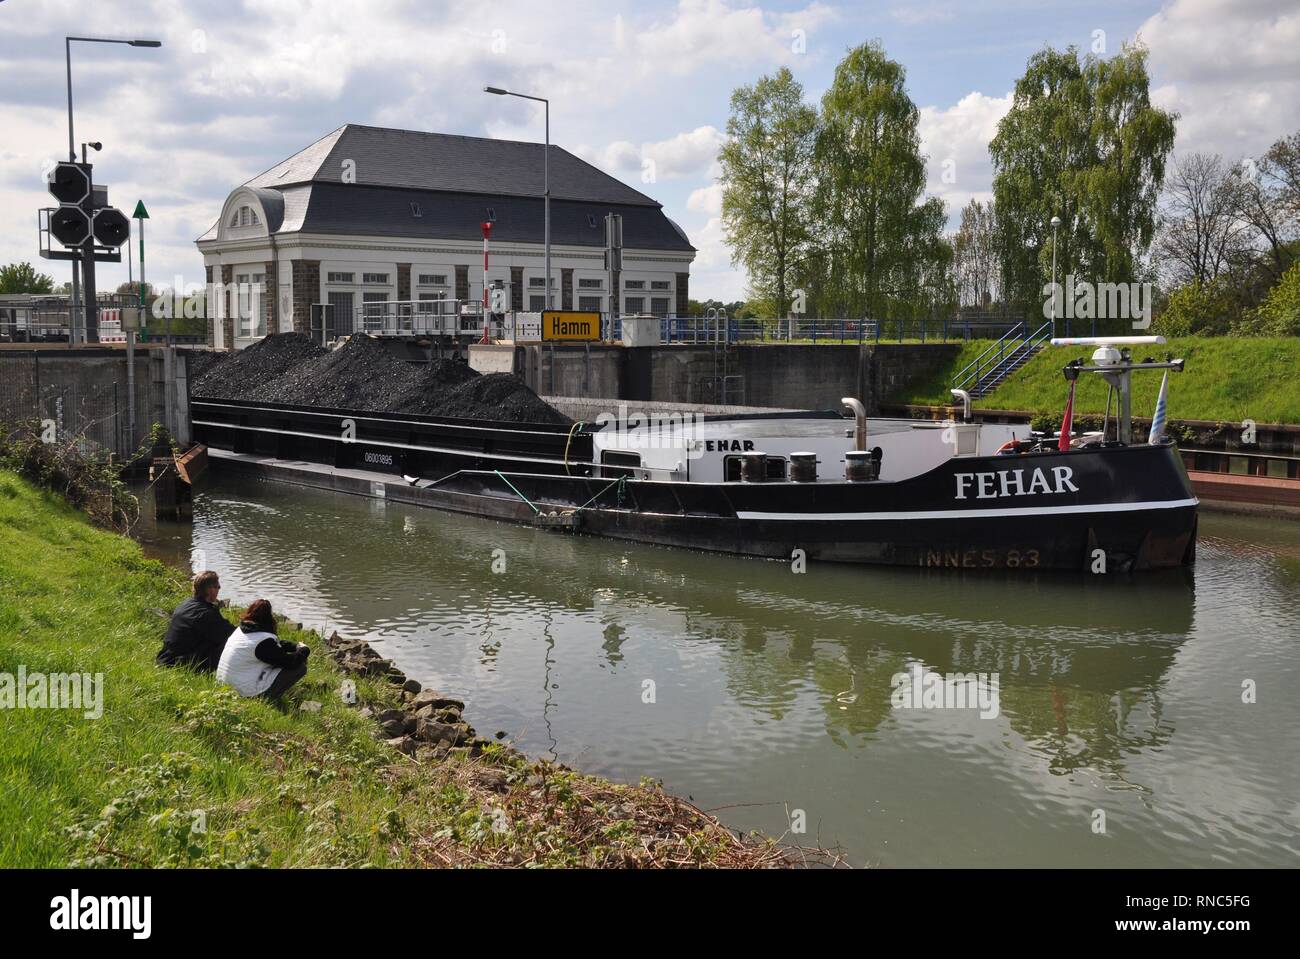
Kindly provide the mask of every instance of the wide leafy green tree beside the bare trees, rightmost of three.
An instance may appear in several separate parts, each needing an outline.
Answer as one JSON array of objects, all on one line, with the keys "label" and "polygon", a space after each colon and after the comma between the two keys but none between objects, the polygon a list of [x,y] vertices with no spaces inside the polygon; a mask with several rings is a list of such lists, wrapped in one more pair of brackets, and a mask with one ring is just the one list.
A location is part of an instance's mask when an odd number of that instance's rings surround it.
[{"label": "wide leafy green tree beside the bare trees, rightmost of three", "polygon": [[1176,121],[1152,105],[1149,86],[1138,45],[1109,60],[1080,60],[1074,47],[1030,57],[989,143],[1009,299],[1043,301],[1053,216],[1060,278],[1139,278]]}]

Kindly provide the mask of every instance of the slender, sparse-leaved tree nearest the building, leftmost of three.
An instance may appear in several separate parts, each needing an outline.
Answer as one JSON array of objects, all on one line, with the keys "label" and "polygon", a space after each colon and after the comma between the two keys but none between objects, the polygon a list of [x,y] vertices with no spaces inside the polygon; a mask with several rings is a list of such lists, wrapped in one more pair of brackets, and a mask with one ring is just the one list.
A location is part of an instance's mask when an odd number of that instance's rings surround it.
[{"label": "slender, sparse-leaved tree nearest the building, leftmost of three", "polygon": [[792,307],[794,270],[811,238],[815,136],[816,110],[789,69],[732,94],[718,153],[723,230],[751,294],[777,316]]}]

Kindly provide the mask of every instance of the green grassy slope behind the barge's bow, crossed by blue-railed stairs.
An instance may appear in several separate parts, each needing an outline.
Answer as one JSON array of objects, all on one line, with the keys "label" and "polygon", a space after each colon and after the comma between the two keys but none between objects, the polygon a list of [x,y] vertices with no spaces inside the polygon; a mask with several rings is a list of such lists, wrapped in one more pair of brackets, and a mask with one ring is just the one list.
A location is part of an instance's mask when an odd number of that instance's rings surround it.
[{"label": "green grassy slope behind the barge's bow, crossed by blue-railed stairs", "polygon": [[[987,344],[968,344],[962,353],[935,376],[910,383],[890,396],[890,403],[946,404],[953,373],[975,359]],[[1186,337],[1167,346],[1135,351],[1136,359],[1165,352],[1187,360],[1183,373],[1170,374],[1169,415],[1174,420],[1300,424],[1300,389],[1295,373],[1300,369],[1300,338]],[[1087,348],[1048,347],[1022,366],[1002,386],[975,405],[987,409],[1024,409],[1032,413],[1060,413],[1065,407],[1066,383],[1061,368],[1075,356],[1087,357]],[[1150,416],[1160,390],[1160,374],[1134,377],[1134,415]],[[1083,377],[1075,398],[1080,413],[1101,415],[1106,408],[1106,386],[1100,377]]]}]

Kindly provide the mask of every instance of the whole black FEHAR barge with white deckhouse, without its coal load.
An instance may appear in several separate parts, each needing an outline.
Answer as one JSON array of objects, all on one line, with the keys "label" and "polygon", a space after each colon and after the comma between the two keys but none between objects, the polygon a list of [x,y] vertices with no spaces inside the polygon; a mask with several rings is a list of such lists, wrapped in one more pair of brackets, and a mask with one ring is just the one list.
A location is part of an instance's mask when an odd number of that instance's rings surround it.
[{"label": "whole black FEHAR barge with white deckhouse, without its coal load", "polygon": [[1074,376],[1121,390],[1117,435],[1063,451],[1019,425],[867,420],[855,400],[853,420],[611,411],[572,429],[234,400],[192,413],[217,464],[616,539],[889,565],[1188,565],[1196,499],[1176,448],[1126,429],[1131,370],[1180,363],[1134,364],[1112,346],[1093,363]]}]

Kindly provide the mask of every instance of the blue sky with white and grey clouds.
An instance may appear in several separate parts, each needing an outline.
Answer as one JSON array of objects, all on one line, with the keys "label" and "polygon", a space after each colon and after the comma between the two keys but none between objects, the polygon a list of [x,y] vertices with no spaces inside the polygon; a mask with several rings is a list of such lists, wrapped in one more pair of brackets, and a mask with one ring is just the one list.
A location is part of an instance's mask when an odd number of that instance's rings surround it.
[{"label": "blue sky with white and grey clouds", "polygon": [[[347,122],[551,142],[649,194],[698,248],[694,299],[742,299],[719,216],[732,90],[789,66],[820,99],[845,51],[878,39],[907,71],[931,195],[956,226],[991,194],[988,142],[1045,44],[1110,55],[1140,39],[1176,153],[1258,156],[1300,130],[1300,0],[0,0],[0,264],[38,257],[43,172],[66,159],[64,36],[77,143],[96,183],[147,205],[148,278],[203,282],[194,239],[239,183]],[[79,149],[79,147],[78,147]],[[100,287],[126,279],[101,265]]]}]

